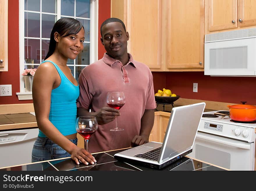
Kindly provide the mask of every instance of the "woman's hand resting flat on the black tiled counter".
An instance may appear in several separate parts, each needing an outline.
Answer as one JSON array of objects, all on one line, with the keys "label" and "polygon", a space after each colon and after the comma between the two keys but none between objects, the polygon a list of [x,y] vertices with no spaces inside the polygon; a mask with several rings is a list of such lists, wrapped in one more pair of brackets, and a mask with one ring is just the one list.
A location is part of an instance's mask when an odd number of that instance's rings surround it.
[{"label": "woman's hand resting flat on the black tiled counter", "polygon": [[74,160],[78,165],[79,160],[85,165],[88,165],[89,163],[93,165],[97,162],[90,153],[79,147],[75,147],[75,149],[70,154],[72,160]]}]

